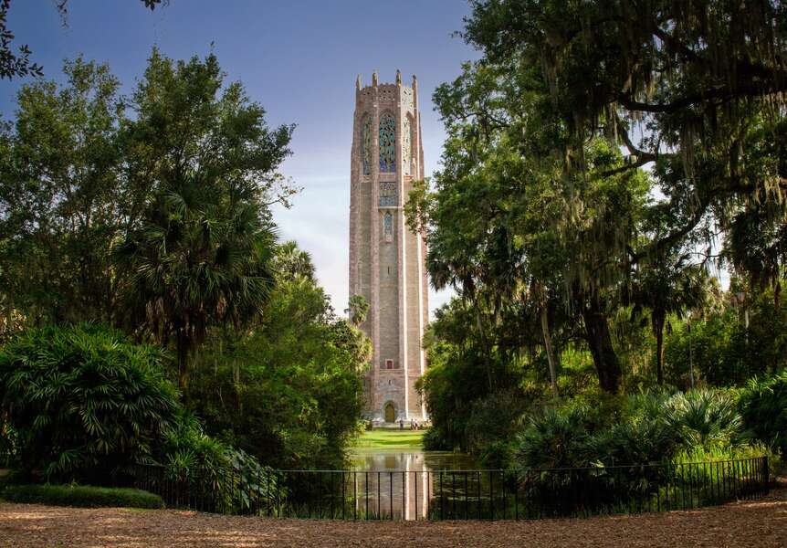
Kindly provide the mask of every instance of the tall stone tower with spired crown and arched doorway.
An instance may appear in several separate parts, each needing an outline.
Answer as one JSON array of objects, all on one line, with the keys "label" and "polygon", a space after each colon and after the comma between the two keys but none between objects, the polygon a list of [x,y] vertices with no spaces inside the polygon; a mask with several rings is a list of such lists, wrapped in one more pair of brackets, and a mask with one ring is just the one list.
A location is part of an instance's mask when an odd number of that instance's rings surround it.
[{"label": "tall stone tower with spired crown and arched doorway", "polygon": [[424,178],[418,86],[396,82],[355,85],[350,192],[350,295],[369,313],[361,328],[373,342],[365,379],[366,413],[375,423],[425,420],[415,390],[424,374],[425,239],[407,227],[403,205],[413,181]]}]

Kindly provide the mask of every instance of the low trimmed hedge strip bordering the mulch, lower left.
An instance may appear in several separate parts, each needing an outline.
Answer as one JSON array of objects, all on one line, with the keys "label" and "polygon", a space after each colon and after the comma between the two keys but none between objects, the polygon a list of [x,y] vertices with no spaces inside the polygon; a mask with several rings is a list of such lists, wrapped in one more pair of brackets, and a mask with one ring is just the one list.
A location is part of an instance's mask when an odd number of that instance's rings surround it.
[{"label": "low trimmed hedge strip bordering the mulch, lower left", "polygon": [[52,504],[83,508],[124,507],[159,509],[162,498],[147,491],[89,485],[11,485],[0,498],[26,504]]}]

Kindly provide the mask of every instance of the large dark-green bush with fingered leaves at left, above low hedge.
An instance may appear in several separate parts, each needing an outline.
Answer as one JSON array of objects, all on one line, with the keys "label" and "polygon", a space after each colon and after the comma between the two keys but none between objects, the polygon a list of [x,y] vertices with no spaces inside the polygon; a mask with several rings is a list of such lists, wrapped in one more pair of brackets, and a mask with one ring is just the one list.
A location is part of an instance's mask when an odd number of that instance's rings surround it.
[{"label": "large dark-green bush with fingered leaves at left, above low hedge", "polygon": [[[205,435],[165,378],[163,355],[108,328],[28,330],[0,352],[6,435],[23,477],[122,484],[144,467],[243,504],[256,458]],[[247,503],[250,503],[247,501]]]}]

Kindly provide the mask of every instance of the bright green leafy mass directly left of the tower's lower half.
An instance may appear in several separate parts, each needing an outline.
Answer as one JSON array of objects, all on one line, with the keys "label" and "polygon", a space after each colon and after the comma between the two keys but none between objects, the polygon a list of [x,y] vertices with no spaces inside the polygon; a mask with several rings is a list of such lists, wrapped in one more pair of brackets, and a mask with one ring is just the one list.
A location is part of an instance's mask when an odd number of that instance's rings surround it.
[{"label": "bright green leafy mass directly left of the tower's lower half", "polygon": [[288,272],[260,321],[247,332],[215,332],[199,353],[190,405],[212,435],[269,465],[341,467],[362,416],[370,343],[335,316],[312,276]]}]

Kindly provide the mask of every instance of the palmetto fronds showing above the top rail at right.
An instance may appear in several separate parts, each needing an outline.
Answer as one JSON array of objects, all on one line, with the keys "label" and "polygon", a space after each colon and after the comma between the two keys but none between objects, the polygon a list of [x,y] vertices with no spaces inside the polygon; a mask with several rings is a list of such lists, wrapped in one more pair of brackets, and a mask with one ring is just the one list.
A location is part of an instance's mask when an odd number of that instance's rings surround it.
[{"label": "palmetto fronds showing above the top rail at right", "polygon": [[613,466],[669,462],[687,451],[740,448],[736,400],[724,392],[697,391],[577,399],[530,416],[517,437],[519,469]]}]

